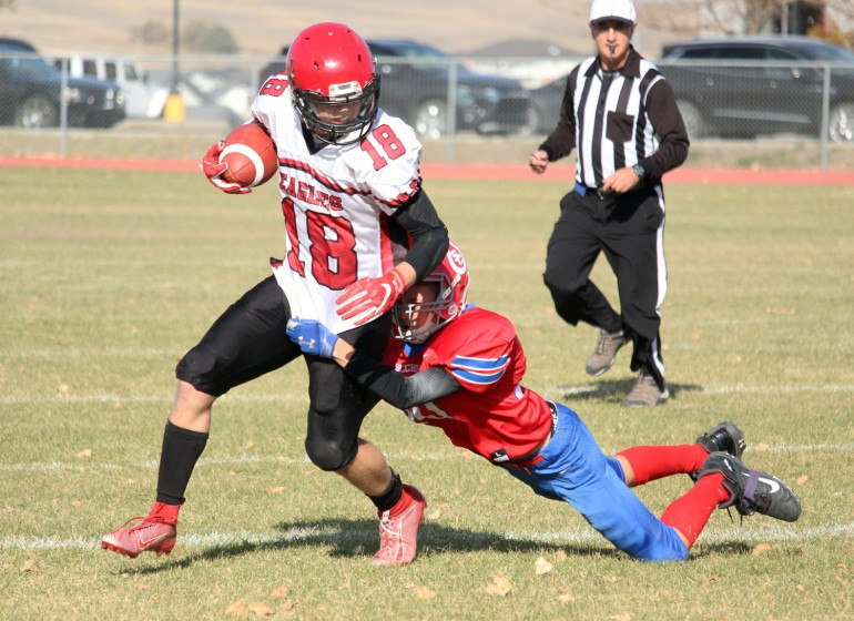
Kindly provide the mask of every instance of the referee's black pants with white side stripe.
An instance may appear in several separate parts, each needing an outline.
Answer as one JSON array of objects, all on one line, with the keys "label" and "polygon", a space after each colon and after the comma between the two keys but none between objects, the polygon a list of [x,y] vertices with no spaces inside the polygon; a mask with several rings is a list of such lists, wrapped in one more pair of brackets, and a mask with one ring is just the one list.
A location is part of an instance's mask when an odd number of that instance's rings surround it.
[{"label": "referee's black pants with white side stripe", "polygon": [[[634,344],[631,369],[664,387],[659,307],[667,292],[664,194],[660,184],[600,198],[582,186],[560,201],[548,244],[543,281],[555,308],[571,325],[623,330]],[[620,313],[590,281],[599,253],[617,276]]]}]

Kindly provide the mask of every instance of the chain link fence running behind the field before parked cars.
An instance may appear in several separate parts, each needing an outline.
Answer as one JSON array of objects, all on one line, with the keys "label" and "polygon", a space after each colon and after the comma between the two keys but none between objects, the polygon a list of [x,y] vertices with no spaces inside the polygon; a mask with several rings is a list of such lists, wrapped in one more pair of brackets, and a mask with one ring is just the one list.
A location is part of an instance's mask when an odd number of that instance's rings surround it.
[{"label": "chain link fence running behind the field before parked cars", "polygon": [[[576,60],[379,57],[380,105],[416,129],[426,159],[525,162],[557,122]],[[283,62],[48,57],[0,45],[0,156],[197,160],[248,119],[261,83]],[[851,167],[854,65],[658,64],[677,93],[692,154],[755,147],[770,152],[769,166]]]}]

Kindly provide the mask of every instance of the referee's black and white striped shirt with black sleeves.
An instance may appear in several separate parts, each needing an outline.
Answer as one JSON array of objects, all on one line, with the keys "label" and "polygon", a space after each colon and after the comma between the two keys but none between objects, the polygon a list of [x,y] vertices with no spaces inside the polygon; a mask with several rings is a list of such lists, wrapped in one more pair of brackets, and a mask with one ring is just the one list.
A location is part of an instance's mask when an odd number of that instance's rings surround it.
[{"label": "referee's black and white striped shirt with black sleeves", "polygon": [[560,121],[540,145],[553,162],[577,149],[576,181],[601,187],[617,170],[642,164],[647,183],[688,156],[688,132],[670,84],[633,48],[622,69],[603,71],[599,57],[572,69]]}]

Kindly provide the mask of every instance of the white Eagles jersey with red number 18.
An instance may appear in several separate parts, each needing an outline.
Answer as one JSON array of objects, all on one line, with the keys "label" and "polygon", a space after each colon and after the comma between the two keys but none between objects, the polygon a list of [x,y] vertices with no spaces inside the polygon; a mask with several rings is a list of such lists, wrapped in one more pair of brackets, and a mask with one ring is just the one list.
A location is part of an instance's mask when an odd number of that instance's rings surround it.
[{"label": "white Eagles jersey with red number 18", "polygon": [[312,154],[283,77],[264,83],[252,114],[276,143],[287,253],[273,268],[292,315],[350,329],[335,299],[358,278],[394,267],[388,217],[420,189],[421,144],[380,110],[360,142]]}]

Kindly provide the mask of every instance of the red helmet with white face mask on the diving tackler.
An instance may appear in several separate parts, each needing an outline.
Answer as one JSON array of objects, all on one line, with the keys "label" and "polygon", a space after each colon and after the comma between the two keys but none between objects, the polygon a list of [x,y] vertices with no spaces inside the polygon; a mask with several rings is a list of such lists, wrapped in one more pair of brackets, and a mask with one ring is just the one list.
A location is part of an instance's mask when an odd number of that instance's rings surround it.
[{"label": "red helmet with white face mask on the diving tackler", "polygon": [[[405,304],[400,299],[395,304],[392,313],[392,320],[397,328],[395,338],[411,344],[427,340],[466,307],[469,276],[462,252],[451,242],[441,263],[420,282],[438,283],[436,301]],[[413,327],[415,317],[421,313],[428,315],[427,320],[419,327]]]}]

